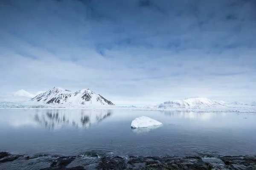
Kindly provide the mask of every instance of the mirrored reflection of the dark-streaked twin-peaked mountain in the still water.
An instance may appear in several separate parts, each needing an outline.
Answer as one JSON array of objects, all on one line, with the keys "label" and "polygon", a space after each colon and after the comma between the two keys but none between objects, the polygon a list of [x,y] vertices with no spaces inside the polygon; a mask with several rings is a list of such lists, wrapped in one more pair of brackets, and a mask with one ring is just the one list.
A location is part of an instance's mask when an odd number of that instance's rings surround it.
[{"label": "mirrored reflection of the dark-streaked twin-peaked mountain in the still water", "polygon": [[47,110],[38,111],[34,116],[34,120],[39,125],[49,129],[60,128],[65,125],[72,125],[73,127],[90,127],[92,124],[99,123],[111,115],[111,110],[72,110],[72,112],[70,110]]}]

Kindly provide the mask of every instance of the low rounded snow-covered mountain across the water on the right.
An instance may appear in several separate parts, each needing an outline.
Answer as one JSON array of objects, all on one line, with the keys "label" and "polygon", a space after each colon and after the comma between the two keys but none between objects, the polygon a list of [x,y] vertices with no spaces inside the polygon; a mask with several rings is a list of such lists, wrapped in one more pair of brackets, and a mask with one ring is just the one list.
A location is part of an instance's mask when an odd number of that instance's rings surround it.
[{"label": "low rounded snow-covered mountain across the water on the right", "polygon": [[207,98],[190,98],[163,102],[159,108],[200,108],[200,107],[222,107],[223,102],[216,102]]}]

